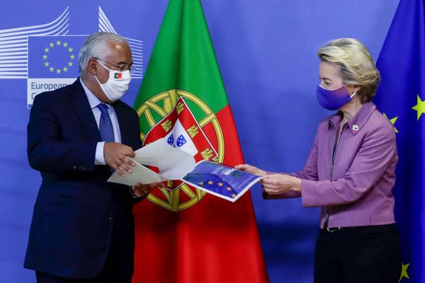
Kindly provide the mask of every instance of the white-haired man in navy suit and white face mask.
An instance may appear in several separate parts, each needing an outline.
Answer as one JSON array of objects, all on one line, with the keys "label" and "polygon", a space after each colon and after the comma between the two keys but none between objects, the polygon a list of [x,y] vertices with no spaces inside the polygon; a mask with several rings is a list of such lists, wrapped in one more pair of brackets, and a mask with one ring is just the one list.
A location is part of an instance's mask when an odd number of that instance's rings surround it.
[{"label": "white-haired man in navy suit and white face mask", "polygon": [[137,113],[119,100],[131,79],[128,42],[90,35],[79,67],[77,81],[41,93],[31,108],[28,160],[42,183],[25,267],[38,282],[130,283],[132,203],[158,184],[107,182],[113,170],[132,173],[130,157],[141,146]]}]

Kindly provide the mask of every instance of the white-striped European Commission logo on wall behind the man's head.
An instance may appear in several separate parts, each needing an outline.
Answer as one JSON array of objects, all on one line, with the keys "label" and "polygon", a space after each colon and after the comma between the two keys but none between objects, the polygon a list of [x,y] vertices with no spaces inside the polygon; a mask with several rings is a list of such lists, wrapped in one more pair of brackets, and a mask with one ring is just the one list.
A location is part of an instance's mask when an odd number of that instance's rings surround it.
[{"label": "white-striped European Commission logo on wall behind the man's head", "polygon": [[[117,33],[98,6],[98,30]],[[45,25],[0,30],[0,79],[27,80],[27,108],[35,96],[73,83],[79,76],[78,54],[88,35],[69,35],[69,6]],[[143,77],[143,42],[126,37],[135,72]]]}]

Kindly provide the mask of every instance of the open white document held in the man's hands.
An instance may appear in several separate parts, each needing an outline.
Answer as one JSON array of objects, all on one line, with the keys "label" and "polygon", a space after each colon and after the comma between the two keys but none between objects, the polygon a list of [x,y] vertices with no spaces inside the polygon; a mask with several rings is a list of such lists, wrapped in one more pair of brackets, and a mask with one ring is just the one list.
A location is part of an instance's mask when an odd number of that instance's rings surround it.
[{"label": "open white document held in the man's hands", "polygon": [[[164,180],[180,180],[187,173],[193,171],[195,158],[186,151],[181,151],[166,143],[164,138],[157,139],[135,151],[136,166],[132,167],[132,173],[125,172],[121,177],[116,171],[108,179],[108,182],[124,185],[137,185],[137,183],[149,184]],[[156,173],[146,166],[159,168]]]}]

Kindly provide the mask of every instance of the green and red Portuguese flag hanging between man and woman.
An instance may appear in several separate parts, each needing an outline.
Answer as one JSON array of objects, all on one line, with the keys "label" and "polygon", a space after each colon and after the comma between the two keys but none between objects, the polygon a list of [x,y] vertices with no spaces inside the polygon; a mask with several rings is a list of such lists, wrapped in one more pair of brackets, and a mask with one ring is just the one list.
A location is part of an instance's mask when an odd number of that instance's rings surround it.
[{"label": "green and red Portuguese flag hanging between man and woman", "polygon": [[[143,144],[243,163],[199,0],[170,0],[134,105]],[[133,282],[267,282],[251,195],[227,202],[170,180],[134,207]]]}]

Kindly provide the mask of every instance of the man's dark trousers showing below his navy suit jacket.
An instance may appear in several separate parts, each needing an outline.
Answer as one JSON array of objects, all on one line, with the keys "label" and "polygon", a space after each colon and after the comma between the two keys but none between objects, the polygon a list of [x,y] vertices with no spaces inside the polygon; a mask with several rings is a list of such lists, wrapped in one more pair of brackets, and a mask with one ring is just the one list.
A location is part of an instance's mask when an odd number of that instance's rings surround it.
[{"label": "man's dark trousers showing below his navy suit jacket", "polygon": [[120,262],[120,258],[123,256],[120,254],[119,248],[117,248],[117,238],[113,233],[111,248],[106,259],[105,266],[100,275],[94,278],[87,279],[70,279],[57,277],[44,272],[35,272],[35,277],[38,283],[130,283],[132,278],[132,272],[128,271],[128,268],[123,268]]}]

